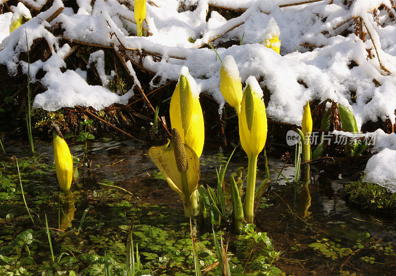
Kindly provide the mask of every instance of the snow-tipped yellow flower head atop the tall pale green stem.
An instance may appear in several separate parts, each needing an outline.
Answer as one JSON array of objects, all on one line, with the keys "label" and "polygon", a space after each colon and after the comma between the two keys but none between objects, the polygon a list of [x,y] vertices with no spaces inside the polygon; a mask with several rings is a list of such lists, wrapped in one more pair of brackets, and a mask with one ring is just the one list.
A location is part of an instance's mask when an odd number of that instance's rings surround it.
[{"label": "snow-tipped yellow flower head atop the tall pale green stem", "polygon": [[239,137],[247,156],[257,156],[267,139],[267,116],[261,99],[263,92],[255,77],[246,80],[239,116]]}]

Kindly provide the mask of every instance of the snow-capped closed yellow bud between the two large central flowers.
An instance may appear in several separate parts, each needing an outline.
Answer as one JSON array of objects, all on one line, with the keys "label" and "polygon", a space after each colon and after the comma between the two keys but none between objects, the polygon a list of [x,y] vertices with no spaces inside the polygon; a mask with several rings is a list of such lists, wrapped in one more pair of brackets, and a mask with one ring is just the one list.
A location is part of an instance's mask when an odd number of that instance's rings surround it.
[{"label": "snow-capped closed yellow bud between the two large central flowers", "polygon": [[242,82],[239,75],[238,65],[232,55],[227,55],[220,69],[220,91],[227,103],[230,104],[237,114],[241,113]]}]

